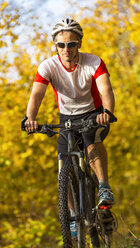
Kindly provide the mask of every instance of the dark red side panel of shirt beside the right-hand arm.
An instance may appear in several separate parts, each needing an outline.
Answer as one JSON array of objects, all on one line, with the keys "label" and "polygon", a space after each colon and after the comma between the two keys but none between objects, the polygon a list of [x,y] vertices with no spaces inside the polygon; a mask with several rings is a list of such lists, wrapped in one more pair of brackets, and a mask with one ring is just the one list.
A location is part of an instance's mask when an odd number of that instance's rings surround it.
[{"label": "dark red side panel of shirt beside the right-hand arm", "polygon": [[96,85],[95,78],[93,76],[92,76],[91,95],[93,97],[95,108],[96,109],[99,108],[102,105],[102,100],[101,100],[100,93]]}]

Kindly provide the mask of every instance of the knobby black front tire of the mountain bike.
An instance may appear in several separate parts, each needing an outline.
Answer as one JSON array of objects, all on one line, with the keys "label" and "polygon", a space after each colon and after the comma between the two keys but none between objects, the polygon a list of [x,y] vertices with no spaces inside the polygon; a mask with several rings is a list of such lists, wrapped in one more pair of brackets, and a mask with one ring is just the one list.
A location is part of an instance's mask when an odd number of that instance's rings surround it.
[{"label": "knobby black front tire of the mountain bike", "polygon": [[[69,180],[72,187],[72,196],[76,215],[75,219],[77,224],[77,239],[74,238],[74,241],[70,233],[70,213],[68,208]],[[73,243],[77,244],[77,248],[85,248],[85,224],[84,220],[80,218],[79,187],[73,165],[65,164],[59,174],[59,217],[64,248],[74,247]]]}]

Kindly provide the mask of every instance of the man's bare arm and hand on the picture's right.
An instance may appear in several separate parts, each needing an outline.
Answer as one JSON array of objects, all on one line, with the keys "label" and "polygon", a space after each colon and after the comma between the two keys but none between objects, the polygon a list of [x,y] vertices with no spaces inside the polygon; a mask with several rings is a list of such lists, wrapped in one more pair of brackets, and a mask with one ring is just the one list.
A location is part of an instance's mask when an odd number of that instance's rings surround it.
[{"label": "man's bare arm and hand on the picture's right", "polygon": [[[109,80],[109,75],[105,73],[99,76],[96,79],[96,84],[102,97],[102,103],[104,109],[108,109],[111,113],[113,113],[115,106],[115,99],[114,99],[114,93],[112,90],[111,82]],[[107,113],[103,113],[97,116],[96,121],[99,124],[108,124],[109,119],[110,119],[109,115]]]}]

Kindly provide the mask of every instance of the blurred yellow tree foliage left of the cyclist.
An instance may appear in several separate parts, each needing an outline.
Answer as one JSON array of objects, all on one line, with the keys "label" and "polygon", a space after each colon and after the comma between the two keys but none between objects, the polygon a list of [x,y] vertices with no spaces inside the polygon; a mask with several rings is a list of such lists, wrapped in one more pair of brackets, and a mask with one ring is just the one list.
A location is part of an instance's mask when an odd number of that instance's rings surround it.
[{"label": "blurred yellow tree foliage left of the cyclist", "polygon": [[[0,245],[7,248],[35,248],[44,247],[46,244],[56,247],[61,241],[57,221],[57,142],[56,138],[49,139],[43,135],[28,136],[20,130],[20,122],[26,114],[37,71],[37,61],[34,59],[33,63],[29,51],[17,45],[15,26],[19,23],[19,15],[9,10],[8,3],[3,2],[1,45],[4,56],[1,58],[3,74],[0,78]],[[4,41],[4,36],[7,42]],[[39,63],[38,54],[47,56],[51,44],[46,35],[40,35],[36,31],[35,36],[34,41],[31,37],[30,39]],[[46,44],[47,49],[44,49]],[[16,72],[17,78],[11,78],[11,70]],[[8,75],[10,80],[7,79]],[[56,101],[51,87],[48,87],[38,116],[40,123],[57,121]]]}]

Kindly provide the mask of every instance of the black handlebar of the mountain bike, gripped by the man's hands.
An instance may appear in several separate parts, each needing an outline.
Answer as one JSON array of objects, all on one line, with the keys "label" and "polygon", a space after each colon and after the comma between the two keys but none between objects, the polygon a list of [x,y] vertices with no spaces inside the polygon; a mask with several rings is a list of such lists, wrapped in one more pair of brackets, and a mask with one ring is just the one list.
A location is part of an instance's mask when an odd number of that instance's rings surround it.
[{"label": "black handlebar of the mountain bike, gripped by the man's hands", "polygon": [[[104,109],[104,112],[110,115],[110,123],[116,122],[117,118],[107,109]],[[24,117],[21,122],[21,130],[26,131],[25,129],[25,122],[28,119],[28,117]],[[77,130],[80,132],[86,132],[91,128],[98,128],[98,127],[106,127],[107,125],[100,125],[93,121],[93,119],[89,120],[83,120],[81,119],[79,122],[67,120],[63,124],[50,124],[50,125],[39,125],[37,131],[29,132],[31,133],[43,133],[47,134],[49,137],[53,136],[54,134],[57,134],[58,132],[54,131],[53,129],[56,128],[65,128],[66,130]]]}]

